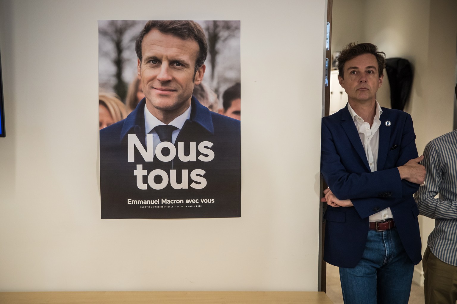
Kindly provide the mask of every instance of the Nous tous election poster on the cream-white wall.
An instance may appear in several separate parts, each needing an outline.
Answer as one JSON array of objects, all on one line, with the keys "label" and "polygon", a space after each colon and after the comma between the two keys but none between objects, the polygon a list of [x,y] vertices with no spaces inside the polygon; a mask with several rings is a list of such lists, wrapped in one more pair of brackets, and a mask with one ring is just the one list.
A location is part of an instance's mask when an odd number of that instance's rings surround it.
[{"label": "Nous tous election poster on the cream-white wall", "polygon": [[240,216],[240,22],[99,21],[101,218]]}]

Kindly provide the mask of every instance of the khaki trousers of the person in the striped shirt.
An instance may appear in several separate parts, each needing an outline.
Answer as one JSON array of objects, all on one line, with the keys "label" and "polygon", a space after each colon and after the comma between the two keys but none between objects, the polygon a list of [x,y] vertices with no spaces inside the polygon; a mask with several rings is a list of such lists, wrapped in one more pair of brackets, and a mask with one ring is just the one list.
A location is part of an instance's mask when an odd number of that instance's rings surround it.
[{"label": "khaki trousers of the person in the striped shirt", "polygon": [[427,247],[422,258],[425,304],[456,304],[457,267],[442,262]]}]

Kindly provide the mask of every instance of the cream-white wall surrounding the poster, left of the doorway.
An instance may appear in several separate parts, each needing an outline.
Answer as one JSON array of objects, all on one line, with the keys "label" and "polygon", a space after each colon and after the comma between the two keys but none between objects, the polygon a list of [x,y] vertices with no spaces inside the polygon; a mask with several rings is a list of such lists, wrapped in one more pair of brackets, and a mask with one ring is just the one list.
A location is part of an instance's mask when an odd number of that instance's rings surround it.
[{"label": "cream-white wall surrounding the poster, left of the doorway", "polygon": [[[0,291],[317,290],[324,9],[1,0]],[[241,20],[241,218],[100,219],[104,19]]]}]

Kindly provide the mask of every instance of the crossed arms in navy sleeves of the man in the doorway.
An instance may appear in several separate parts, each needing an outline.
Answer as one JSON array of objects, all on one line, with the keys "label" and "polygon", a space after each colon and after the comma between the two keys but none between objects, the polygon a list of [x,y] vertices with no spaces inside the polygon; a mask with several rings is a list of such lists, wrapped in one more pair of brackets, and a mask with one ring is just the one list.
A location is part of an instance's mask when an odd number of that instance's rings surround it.
[{"label": "crossed arms in navy sleeves of the man in the doorway", "polygon": [[363,160],[347,149],[349,144],[341,144],[342,136],[344,139],[347,137],[344,132],[327,126],[323,120],[321,172],[335,198],[341,201],[351,200],[362,217],[373,213],[372,208],[365,208],[369,206],[360,206],[367,199],[371,205],[387,208],[399,203],[399,198],[411,197],[419,188],[418,183],[424,181],[425,168],[419,164],[422,158],[417,157],[415,134],[409,115],[399,140],[398,155],[393,156],[395,166],[385,170],[368,172]]}]

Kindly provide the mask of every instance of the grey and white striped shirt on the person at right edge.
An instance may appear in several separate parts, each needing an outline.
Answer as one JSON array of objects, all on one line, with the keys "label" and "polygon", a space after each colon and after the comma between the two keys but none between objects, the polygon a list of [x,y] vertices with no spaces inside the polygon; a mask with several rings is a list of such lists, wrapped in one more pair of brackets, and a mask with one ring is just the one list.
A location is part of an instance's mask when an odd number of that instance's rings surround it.
[{"label": "grey and white striped shirt on the person at right edge", "polygon": [[425,186],[415,199],[420,214],[435,219],[427,245],[441,261],[457,266],[457,130],[430,141],[422,164]]}]

